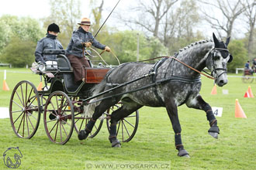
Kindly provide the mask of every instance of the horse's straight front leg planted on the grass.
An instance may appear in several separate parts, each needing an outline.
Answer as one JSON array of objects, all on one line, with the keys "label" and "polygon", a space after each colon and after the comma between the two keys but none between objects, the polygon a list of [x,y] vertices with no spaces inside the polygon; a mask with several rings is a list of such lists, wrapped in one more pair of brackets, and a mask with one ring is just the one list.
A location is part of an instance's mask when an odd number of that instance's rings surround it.
[{"label": "horse's straight front leg planted on the grass", "polygon": [[172,128],[175,131],[175,147],[178,150],[178,156],[189,157],[189,152],[182,145],[182,128],[178,121],[178,109],[175,101],[171,97],[168,97],[165,99],[165,107],[171,119]]}]

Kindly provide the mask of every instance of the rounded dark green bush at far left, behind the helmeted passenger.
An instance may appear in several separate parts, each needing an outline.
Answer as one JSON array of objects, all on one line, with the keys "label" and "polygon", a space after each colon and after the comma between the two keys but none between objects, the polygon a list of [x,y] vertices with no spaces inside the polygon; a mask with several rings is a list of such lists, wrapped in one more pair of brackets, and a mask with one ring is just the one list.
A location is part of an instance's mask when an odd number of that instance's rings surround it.
[{"label": "rounded dark green bush at far left, behind the helmeted passenger", "polygon": [[19,36],[12,36],[2,53],[1,60],[5,63],[11,63],[15,67],[31,65],[35,60],[35,49],[35,42],[19,39]]}]

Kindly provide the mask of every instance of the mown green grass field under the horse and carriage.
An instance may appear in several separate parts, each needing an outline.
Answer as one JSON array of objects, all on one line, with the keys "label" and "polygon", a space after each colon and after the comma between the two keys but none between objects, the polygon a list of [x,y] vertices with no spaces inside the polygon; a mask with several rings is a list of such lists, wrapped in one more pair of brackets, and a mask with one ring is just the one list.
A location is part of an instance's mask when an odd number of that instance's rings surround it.
[{"label": "mown green grass field under the horse and carriage", "polygon": [[[37,86],[40,81],[39,76],[29,70],[9,68],[0,68],[0,80],[3,80],[4,69],[8,70],[6,82],[10,91],[3,91],[0,84],[0,107],[9,107],[9,98],[16,83],[29,80]],[[240,78],[230,77],[226,86],[217,87],[217,94],[210,95],[213,81],[202,77],[201,94],[204,100],[212,107],[223,107],[223,116],[217,117],[220,128],[217,140],[208,134],[209,123],[202,110],[189,109],[185,105],[178,107],[182,142],[191,158],[177,156],[168,114],[164,108],[153,107],[139,110],[137,134],[132,141],[123,143],[122,148],[110,147],[106,122],[95,138],[81,143],[74,132],[66,145],[56,145],[47,138],[42,121],[35,136],[24,140],[16,137],[9,119],[0,119],[0,154],[9,147],[19,147],[23,157],[18,169],[26,170],[86,169],[88,161],[171,162],[168,167],[171,169],[256,169],[256,98],[244,98],[249,85],[256,93],[256,82],[246,84]],[[223,94],[223,89],[229,90],[229,94]],[[247,119],[234,117],[236,99]],[[0,159],[0,169],[7,169],[3,158]]]}]

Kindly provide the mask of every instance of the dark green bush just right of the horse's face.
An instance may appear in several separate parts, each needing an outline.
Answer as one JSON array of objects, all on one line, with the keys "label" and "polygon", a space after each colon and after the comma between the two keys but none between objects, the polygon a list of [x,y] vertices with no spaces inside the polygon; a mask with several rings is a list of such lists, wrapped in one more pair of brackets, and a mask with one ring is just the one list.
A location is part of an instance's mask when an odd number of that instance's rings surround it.
[{"label": "dark green bush just right of the horse's face", "polygon": [[248,60],[247,49],[244,47],[242,40],[232,40],[228,46],[233,56],[233,61],[227,64],[227,70],[234,72],[237,67],[244,67],[244,63]]}]

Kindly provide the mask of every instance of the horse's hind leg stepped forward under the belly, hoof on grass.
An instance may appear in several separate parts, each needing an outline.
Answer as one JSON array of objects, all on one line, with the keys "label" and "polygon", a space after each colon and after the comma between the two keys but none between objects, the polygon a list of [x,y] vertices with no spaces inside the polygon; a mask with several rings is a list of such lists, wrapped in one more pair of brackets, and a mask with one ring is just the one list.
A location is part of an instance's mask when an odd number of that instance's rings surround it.
[{"label": "horse's hind leg stepped forward under the belly, hoof on grass", "polygon": [[114,110],[111,114],[110,127],[109,127],[109,141],[112,147],[119,148],[121,144],[116,138],[116,124],[123,117],[127,117],[132,114],[134,111],[138,110],[142,105],[137,104],[130,100],[130,103],[123,102],[123,106],[119,109]]}]

